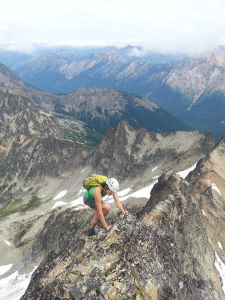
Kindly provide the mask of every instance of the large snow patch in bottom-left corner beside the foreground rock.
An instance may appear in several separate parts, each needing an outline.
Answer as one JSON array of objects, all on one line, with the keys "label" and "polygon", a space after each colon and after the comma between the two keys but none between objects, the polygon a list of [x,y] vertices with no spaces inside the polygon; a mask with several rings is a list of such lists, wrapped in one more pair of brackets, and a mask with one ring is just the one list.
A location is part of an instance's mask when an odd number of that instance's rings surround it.
[{"label": "large snow patch in bottom-left corner beside the foreground rock", "polygon": [[19,300],[24,294],[34,269],[28,274],[18,274],[15,271],[11,275],[0,280],[0,300]]}]

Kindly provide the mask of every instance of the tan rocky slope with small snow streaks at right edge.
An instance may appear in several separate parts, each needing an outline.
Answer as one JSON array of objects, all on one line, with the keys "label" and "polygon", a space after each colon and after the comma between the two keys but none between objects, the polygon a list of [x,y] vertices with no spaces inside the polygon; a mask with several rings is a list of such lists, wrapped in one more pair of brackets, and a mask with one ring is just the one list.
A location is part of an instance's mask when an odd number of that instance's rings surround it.
[{"label": "tan rocky slope with small snow streaks at right edge", "polygon": [[187,178],[201,203],[210,245],[224,262],[224,246],[221,245],[225,244],[225,135],[214,149],[197,163]]}]

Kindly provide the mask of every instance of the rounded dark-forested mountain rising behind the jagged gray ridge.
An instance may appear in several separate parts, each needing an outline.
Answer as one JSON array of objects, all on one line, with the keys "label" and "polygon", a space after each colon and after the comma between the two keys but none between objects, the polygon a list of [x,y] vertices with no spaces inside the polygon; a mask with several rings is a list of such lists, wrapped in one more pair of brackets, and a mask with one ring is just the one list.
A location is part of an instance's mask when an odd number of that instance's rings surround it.
[{"label": "rounded dark-forested mountain rising behind the jagged gray ridge", "polygon": [[[42,105],[49,105],[49,102],[44,100]],[[79,88],[58,96],[51,105],[55,111],[78,118],[101,133],[122,119],[135,128],[145,127],[153,132],[191,129],[158,105],[109,87]]]}]

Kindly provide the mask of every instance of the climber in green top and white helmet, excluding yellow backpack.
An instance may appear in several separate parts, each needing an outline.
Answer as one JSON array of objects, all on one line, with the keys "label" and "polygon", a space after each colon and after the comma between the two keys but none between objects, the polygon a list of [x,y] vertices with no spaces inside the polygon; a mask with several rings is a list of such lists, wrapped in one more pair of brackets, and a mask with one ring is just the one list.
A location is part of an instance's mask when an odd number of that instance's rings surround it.
[{"label": "climber in green top and white helmet, excluding yellow backpack", "polygon": [[94,227],[97,223],[99,226],[102,224],[106,230],[111,229],[111,225],[107,225],[104,218],[110,210],[110,205],[103,202],[101,200],[102,197],[106,195],[112,195],[115,201],[115,205],[121,210],[121,212],[123,214],[128,212],[123,209],[122,204],[118,199],[118,188],[118,181],[115,178],[109,178],[101,186],[91,186],[90,189],[85,192],[83,196],[84,204],[94,209],[94,217],[91,221],[90,228],[88,228],[87,230],[88,236],[96,234],[96,230],[94,230]]}]

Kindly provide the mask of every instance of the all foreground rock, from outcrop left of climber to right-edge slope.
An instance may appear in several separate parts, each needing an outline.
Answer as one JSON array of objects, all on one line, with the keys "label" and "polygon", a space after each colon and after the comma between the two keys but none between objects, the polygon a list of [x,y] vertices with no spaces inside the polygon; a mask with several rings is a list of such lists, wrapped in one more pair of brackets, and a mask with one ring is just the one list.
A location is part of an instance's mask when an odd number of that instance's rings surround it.
[{"label": "all foreground rock, from outcrop left of climber to right-edge slope", "polygon": [[109,232],[85,237],[88,214],[71,208],[50,216],[36,243],[49,254],[21,299],[223,299],[224,142],[186,180],[162,174],[142,209],[130,197]]}]

